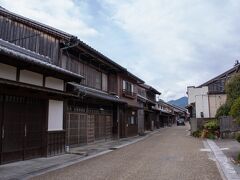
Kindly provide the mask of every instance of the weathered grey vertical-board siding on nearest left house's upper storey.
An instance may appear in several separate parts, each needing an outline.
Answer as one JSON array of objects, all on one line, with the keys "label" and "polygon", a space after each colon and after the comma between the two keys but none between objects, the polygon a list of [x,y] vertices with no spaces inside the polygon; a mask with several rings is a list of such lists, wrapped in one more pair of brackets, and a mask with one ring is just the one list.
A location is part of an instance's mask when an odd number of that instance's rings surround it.
[{"label": "weathered grey vertical-board siding on nearest left house's upper storey", "polygon": [[59,39],[38,31],[32,27],[0,16],[0,38],[29,49],[44,56],[48,56],[53,63],[59,65]]}]

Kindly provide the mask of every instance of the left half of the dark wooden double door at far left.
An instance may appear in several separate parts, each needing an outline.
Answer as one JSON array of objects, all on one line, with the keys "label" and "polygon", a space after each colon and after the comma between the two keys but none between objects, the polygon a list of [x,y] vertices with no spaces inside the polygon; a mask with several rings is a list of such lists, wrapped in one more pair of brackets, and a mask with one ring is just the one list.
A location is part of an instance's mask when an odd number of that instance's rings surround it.
[{"label": "left half of the dark wooden double door at far left", "polygon": [[2,163],[23,160],[24,106],[22,98],[5,96],[2,123]]}]

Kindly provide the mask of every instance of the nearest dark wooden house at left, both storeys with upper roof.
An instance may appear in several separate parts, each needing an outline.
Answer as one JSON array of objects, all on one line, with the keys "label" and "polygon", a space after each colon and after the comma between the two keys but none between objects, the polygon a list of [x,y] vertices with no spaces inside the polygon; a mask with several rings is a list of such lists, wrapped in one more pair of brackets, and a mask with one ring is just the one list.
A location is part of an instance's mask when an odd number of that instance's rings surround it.
[{"label": "nearest dark wooden house at left, both storeys with upper roof", "polygon": [[83,76],[60,68],[61,48],[76,37],[3,8],[0,27],[1,162],[64,152],[67,82]]}]

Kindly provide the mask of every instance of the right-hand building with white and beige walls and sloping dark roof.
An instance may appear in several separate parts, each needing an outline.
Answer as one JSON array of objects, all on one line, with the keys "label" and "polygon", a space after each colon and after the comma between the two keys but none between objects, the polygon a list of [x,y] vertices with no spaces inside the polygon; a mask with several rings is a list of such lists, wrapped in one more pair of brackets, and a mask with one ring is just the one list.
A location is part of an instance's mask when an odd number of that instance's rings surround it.
[{"label": "right-hand building with white and beige walls and sloping dark roof", "polygon": [[215,118],[218,108],[227,100],[225,84],[232,76],[239,73],[239,69],[240,64],[237,61],[234,67],[207,82],[197,87],[187,87],[187,109],[192,122],[192,132],[201,127],[205,121]]}]

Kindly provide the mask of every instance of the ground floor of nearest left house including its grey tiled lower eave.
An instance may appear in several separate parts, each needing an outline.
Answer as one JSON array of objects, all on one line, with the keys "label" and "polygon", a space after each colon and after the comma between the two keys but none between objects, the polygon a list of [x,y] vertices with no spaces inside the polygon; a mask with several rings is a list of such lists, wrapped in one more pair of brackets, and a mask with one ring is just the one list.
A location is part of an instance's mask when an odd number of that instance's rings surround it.
[{"label": "ground floor of nearest left house including its grey tiled lower eave", "polygon": [[64,152],[67,82],[81,75],[0,39],[0,163]]}]

